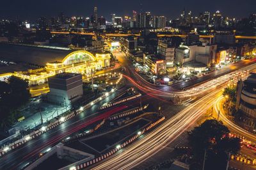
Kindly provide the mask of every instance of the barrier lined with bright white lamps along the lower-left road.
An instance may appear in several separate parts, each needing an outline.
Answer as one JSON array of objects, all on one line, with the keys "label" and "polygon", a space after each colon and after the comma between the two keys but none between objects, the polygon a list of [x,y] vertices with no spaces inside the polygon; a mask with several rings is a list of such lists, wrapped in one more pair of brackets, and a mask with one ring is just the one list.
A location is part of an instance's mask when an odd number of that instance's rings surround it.
[{"label": "barrier lined with bright white lamps along the lower-left road", "polygon": [[102,101],[102,99],[108,97],[113,92],[115,92],[114,89],[112,89],[111,92],[106,92],[103,96],[95,99],[91,103],[88,103],[88,104],[82,106],[81,108],[79,108],[79,110],[72,111],[71,113],[69,113],[65,117],[61,117],[59,120],[56,120],[55,122],[52,122],[52,123],[50,123],[48,125],[45,125],[45,126],[41,127],[41,129],[38,129],[38,130],[36,130],[34,132],[31,132],[30,134],[24,136],[23,138],[15,141],[15,142],[10,143],[9,145],[6,145],[6,146],[2,146],[1,149],[0,149],[0,157],[2,157],[4,154],[9,152],[10,150],[13,150],[13,149],[19,147],[20,145],[23,145],[24,143],[28,142],[29,140],[34,139],[37,136],[40,136],[44,132],[47,132],[50,129],[53,129],[54,127],[57,127],[60,124],[63,124],[67,120],[70,120],[70,118],[73,118],[76,115],[79,115],[84,110],[87,110],[88,108],[91,108],[93,106],[93,104],[99,103],[99,101]]}]

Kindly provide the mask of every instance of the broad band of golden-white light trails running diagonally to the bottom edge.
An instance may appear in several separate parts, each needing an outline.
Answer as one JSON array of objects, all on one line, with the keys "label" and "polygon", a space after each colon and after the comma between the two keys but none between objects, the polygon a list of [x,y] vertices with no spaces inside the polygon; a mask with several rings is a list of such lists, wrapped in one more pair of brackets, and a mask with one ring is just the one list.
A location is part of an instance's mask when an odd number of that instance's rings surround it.
[{"label": "broad band of golden-white light trails running diagonally to the bottom edge", "polygon": [[[220,92],[220,91],[218,91]],[[169,143],[172,143],[182,132],[211,108],[218,92],[211,92],[195,103],[180,111],[162,125],[149,132],[136,143],[128,146],[120,154],[113,155],[99,166],[92,169],[131,169],[144,160],[159,152]]]}]

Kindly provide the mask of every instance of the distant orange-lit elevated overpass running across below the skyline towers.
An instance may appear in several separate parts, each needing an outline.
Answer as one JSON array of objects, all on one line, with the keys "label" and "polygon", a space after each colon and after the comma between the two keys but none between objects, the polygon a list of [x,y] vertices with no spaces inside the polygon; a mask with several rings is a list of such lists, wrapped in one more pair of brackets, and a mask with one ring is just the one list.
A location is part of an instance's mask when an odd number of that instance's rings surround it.
[{"label": "distant orange-lit elevated overpass running across below the skyline towers", "polygon": [[[57,32],[52,31],[51,34],[79,34],[79,35],[95,35],[95,32]],[[141,36],[141,34],[120,34],[120,33],[106,33],[103,34],[104,36],[111,36],[111,37],[126,37],[126,36]],[[172,36],[179,36],[181,38],[186,38],[188,35],[186,34],[157,34],[157,37],[172,37]],[[200,38],[213,38],[213,35],[200,35]],[[256,36],[236,36],[236,39],[256,39]]]}]

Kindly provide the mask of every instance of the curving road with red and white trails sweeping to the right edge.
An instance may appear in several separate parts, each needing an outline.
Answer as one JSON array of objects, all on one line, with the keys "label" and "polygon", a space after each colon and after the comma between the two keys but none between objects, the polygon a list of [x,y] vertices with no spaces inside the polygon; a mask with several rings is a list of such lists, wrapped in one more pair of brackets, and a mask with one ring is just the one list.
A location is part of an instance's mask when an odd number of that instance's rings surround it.
[{"label": "curving road with red and white trails sweeping to the right edge", "polygon": [[[236,64],[230,64],[229,66],[213,71],[210,74],[207,74],[207,76],[202,76],[198,78],[198,80],[190,80],[182,82],[182,87],[188,87],[191,85],[196,85],[196,87],[193,87],[188,90],[180,91],[180,83],[174,84],[171,86],[157,86],[152,85],[151,83],[148,83],[146,80],[144,80],[134,69],[132,69],[131,61],[125,57],[124,52],[117,52],[114,53],[116,55],[116,58],[122,62],[123,66],[126,70],[126,76],[129,81],[132,81],[138,89],[142,90],[143,92],[147,94],[152,94],[154,96],[160,96],[160,97],[192,97],[200,95],[210,89],[215,88],[216,86],[220,85],[223,81],[230,80],[235,76],[235,74],[240,74],[241,77],[243,77],[244,71],[247,71],[248,68],[254,69],[256,68],[255,61],[253,60],[244,60],[241,62],[237,62]],[[248,73],[247,73],[248,74]],[[177,90],[179,89],[179,90]]]}]

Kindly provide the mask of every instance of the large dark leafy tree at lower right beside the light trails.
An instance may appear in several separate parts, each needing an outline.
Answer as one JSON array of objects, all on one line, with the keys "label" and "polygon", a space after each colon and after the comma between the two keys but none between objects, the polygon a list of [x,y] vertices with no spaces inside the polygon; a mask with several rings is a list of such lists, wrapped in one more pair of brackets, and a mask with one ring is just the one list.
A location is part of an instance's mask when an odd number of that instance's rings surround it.
[{"label": "large dark leafy tree at lower right beside the light trails", "polygon": [[228,128],[217,120],[205,120],[195,127],[189,132],[189,145],[195,161],[203,162],[206,152],[205,169],[225,169],[227,152],[237,153],[240,149],[240,139],[230,138],[228,134]]}]

